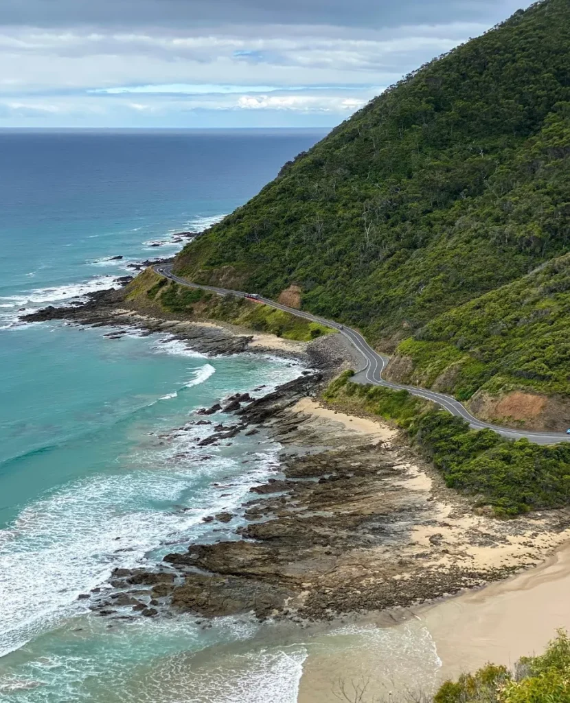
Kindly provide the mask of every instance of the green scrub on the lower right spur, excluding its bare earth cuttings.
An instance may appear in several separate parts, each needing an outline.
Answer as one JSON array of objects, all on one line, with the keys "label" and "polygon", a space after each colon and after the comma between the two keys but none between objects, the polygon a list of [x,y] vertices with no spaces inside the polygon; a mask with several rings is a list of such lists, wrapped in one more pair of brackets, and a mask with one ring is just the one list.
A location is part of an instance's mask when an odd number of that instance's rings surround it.
[{"label": "green scrub on the lower right spur, excluding its bare earth cuttings", "polygon": [[[570,142],[569,142],[570,143]],[[434,319],[398,348],[431,386],[453,366],[446,390],[467,399],[480,387],[570,393],[570,256]]]}]

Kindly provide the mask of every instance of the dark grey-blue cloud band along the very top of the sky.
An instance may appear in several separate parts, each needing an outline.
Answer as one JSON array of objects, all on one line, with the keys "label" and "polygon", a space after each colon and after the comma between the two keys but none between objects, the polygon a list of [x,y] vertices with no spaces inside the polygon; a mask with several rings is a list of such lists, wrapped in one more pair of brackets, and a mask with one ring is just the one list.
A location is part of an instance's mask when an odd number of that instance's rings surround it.
[{"label": "dark grey-blue cloud band along the very top of the sky", "polygon": [[0,24],[64,27],[221,24],[394,27],[441,22],[493,24],[517,0],[1,0]]}]

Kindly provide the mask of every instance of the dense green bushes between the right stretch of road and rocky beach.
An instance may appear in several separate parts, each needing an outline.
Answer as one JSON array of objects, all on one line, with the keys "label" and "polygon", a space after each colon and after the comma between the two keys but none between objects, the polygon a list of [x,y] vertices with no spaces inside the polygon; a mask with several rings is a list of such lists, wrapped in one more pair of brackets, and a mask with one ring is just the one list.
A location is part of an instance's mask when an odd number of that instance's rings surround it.
[{"label": "dense green bushes between the right stretch of road and rocky beach", "polygon": [[474,431],[461,418],[406,391],[363,386],[342,374],[325,399],[393,420],[441,471],[450,488],[490,505],[499,517],[570,503],[570,445],[509,441],[491,430]]}]

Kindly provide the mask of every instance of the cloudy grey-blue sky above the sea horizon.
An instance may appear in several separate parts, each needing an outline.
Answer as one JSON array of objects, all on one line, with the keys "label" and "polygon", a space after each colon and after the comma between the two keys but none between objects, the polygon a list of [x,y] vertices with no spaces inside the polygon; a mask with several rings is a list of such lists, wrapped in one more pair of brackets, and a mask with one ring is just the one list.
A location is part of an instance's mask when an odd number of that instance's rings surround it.
[{"label": "cloudy grey-blue sky above the sea horizon", "polygon": [[528,0],[0,0],[0,127],[333,127]]}]

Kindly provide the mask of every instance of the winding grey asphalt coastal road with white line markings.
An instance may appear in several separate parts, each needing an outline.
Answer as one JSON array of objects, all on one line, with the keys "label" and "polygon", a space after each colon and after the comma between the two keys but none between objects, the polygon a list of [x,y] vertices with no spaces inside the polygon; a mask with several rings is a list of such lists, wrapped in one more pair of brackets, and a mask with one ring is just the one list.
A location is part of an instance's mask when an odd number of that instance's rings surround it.
[{"label": "winding grey asphalt coastal road with white line markings", "polygon": [[[197,285],[196,283],[190,283],[189,280],[176,276],[176,273],[172,272],[172,266],[173,264],[156,264],[153,266],[153,269],[156,273],[160,273],[161,276],[170,278],[180,285],[186,285],[188,288],[204,288],[205,290],[212,290],[212,292],[218,293],[219,295],[230,294],[242,298],[247,295],[247,293],[238,290],[228,290],[227,288],[216,288],[213,285]],[[264,302],[266,305],[271,305],[271,307],[284,310],[285,312],[297,317],[302,317],[311,322],[318,322],[326,325],[327,327],[334,328],[335,330],[338,330],[340,334],[349,339],[358,352],[362,354],[363,360],[365,361],[365,368],[356,373],[352,379],[356,383],[371,383],[377,386],[393,388],[394,390],[406,390],[414,396],[419,396],[420,398],[425,398],[426,400],[437,403],[452,415],[467,420],[470,427],[474,430],[493,430],[493,432],[498,432],[498,434],[501,434],[503,437],[507,437],[508,439],[525,438],[529,439],[529,441],[535,442],[536,444],[555,444],[560,441],[570,441],[570,437],[562,432],[530,432],[529,430],[512,430],[510,427],[500,427],[499,425],[484,423],[483,420],[478,420],[474,417],[474,415],[471,415],[471,413],[469,413],[469,411],[467,411],[467,409],[462,406],[458,400],[455,400],[455,398],[452,398],[451,396],[443,393],[436,393],[435,391],[430,391],[425,388],[405,386],[399,383],[386,381],[382,378],[382,371],[386,368],[387,363],[389,362],[389,356],[384,356],[384,354],[378,354],[375,352],[374,349],[370,347],[368,342],[366,342],[361,333],[346,327],[346,325],[340,325],[332,320],[325,320],[322,317],[311,315],[311,313],[303,310],[295,310],[294,308],[281,305],[280,303],[276,303],[268,298],[259,296],[259,300]]]}]

